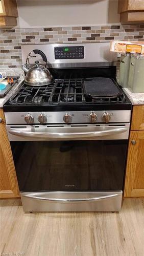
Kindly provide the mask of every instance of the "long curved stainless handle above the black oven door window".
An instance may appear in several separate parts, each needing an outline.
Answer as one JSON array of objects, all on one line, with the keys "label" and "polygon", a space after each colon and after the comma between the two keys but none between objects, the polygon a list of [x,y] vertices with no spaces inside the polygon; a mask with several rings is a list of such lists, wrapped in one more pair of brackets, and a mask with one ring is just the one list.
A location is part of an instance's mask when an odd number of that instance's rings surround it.
[{"label": "long curved stainless handle above the black oven door window", "polygon": [[10,130],[9,133],[13,135],[17,135],[20,137],[33,137],[33,138],[47,138],[47,139],[63,139],[63,138],[90,138],[90,137],[99,137],[99,136],[107,136],[107,135],[115,135],[119,133],[127,132],[127,128],[116,128],[111,130],[104,131],[95,131],[95,132],[76,132],[76,133],[43,133],[43,132],[30,132],[25,130]]}]

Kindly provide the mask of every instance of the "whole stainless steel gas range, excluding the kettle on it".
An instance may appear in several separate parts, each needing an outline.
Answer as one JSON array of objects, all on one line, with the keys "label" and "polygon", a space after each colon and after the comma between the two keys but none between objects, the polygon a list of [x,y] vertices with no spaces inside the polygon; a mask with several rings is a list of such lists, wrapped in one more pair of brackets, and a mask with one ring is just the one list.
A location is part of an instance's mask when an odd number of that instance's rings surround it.
[{"label": "whole stainless steel gas range, excluding the kettle on it", "polygon": [[108,43],[27,45],[23,61],[33,49],[54,81],[23,81],[4,105],[23,210],[119,211],[132,106],[115,56]]}]

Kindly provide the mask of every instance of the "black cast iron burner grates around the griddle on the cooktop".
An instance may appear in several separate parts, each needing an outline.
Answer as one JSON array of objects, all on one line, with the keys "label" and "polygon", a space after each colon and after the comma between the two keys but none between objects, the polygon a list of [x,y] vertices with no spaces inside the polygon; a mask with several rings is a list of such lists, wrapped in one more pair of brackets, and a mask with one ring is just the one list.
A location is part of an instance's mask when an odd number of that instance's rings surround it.
[{"label": "black cast iron burner grates around the griddle on the cooktop", "polygon": [[[116,83],[115,83],[115,86]],[[47,86],[30,87],[22,84],[19,91],[10,98],[11,104],[17,105],[66,105],[66,104],[108,104],[123,103],[125,95],[118,97],[89,98],[84,96],[83,79],[55,79]]]}]

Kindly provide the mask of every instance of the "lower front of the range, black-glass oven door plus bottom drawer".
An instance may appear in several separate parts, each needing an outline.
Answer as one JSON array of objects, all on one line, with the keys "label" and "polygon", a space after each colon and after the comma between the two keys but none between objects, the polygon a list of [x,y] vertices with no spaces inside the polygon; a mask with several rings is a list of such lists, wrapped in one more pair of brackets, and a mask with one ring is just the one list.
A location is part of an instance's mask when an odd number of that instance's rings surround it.
[{"label": "lower front of the range, black-glass oven door plus bottom drawer", "polygon": [[47,205],[52,211],[71,211],[71,205],[121,208],[129,124],[7,126],[7,131],[25,211]]}]

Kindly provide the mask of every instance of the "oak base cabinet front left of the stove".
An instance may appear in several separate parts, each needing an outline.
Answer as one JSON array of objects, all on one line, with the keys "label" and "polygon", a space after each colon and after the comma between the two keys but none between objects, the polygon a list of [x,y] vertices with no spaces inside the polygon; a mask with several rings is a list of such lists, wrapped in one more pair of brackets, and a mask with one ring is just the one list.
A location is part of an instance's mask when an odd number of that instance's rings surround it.
[{"label": "oak base cabinet front left of the stove", "polygon": [[0,118],[0,197],[19,197],[19,189],[3,109],[0,109]]}]

